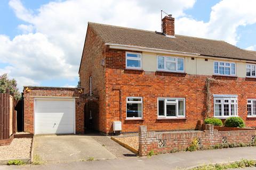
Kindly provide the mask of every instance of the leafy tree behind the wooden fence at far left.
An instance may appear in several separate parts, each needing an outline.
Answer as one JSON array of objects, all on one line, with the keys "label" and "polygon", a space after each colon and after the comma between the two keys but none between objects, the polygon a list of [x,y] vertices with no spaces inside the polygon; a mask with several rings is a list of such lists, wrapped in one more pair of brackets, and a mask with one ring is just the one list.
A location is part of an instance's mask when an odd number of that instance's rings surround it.
[{"label": "leafy tree behind the wooden fence at far left", "polygon": [[7,73],[5,73],[0,75],[0,92],[6,93],[8,90],[10,94],[14,96],[15,100],[21,98],[21,94],[17,88],[17,81],[15,79],[8,79]]}]

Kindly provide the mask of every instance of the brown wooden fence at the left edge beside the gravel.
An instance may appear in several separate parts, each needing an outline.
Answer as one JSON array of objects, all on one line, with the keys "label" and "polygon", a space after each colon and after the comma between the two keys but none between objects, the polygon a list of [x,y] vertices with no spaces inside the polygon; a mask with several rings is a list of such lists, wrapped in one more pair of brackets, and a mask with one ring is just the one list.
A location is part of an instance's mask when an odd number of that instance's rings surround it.
[{"label": "brown wooden fence at the left edge beside the gravel", "polygon": [[16,112],[14,98],[0,93],[0,146],[9,145],[16,130]]}]

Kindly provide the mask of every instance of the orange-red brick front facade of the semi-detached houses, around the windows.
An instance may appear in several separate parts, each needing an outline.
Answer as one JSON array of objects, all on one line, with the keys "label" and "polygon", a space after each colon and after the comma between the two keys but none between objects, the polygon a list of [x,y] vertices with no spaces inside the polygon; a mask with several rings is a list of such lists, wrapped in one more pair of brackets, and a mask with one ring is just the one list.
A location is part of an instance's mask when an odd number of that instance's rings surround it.
[{"label": "orange-red brick front facade of the semi-detached houses, around the windows", "polygon": [[[147,125],[148,130],[153,131],[193,130],[203,122],[205,82],[211,76],[125,70],[125,51],[113,49],[106,52],[105,74],[107,133],[113,132],[113,121],[121,120],[117,89],[122,89],[122,132],[138,132],[139,125]],[[256,118],[247,118],[246,104],[248,98],[256,98],[256,91],[251,90],[254,88],[255,81],[237,78],[215,81],[210,90],[212,94],[238,95],[238,116],[243,118],[246,126],[255,127]],[[143,120],[125,120],[126,97],[136,96],[143,97]],[[159,97],[186,98],[186,118],[157,120]],[[210,116],[213,116],[213,98],[211,103]]]}]

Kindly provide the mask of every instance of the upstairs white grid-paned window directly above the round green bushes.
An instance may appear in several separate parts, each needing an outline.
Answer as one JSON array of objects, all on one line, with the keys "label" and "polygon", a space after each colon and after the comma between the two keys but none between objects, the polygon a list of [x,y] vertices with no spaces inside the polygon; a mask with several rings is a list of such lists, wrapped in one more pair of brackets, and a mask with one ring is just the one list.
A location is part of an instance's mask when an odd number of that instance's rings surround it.
[{"label": "upstairs white grid-paned window directly above the round green bushes", "polygon": [[236,75],[236,64],[227,62],[214,62],[214,74]]}]

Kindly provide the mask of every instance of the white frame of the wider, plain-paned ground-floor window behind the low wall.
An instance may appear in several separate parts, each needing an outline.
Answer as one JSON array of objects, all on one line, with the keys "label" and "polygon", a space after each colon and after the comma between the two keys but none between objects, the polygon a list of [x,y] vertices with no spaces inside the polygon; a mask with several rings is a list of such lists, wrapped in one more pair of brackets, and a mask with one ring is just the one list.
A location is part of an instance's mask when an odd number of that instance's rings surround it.
[{"label": "white frame of the wider, plain-paned ground-floor window behind the low wall", "polygon": [[[159,100],[164,100],[164,115],[159,115],[158,108]],[[175,101],[167,101],[167,100],[175,100]],[[184,115],[179,115],[179,100],[183,100],[183,112]],[[175,104],[176,105],[176,116],[166,116],[166,105],[167,104]],[[164,98],[164,97],[158,97],[157,98],[157,118],[185,118],[186,117],[186,99],[185,98]]]}]

